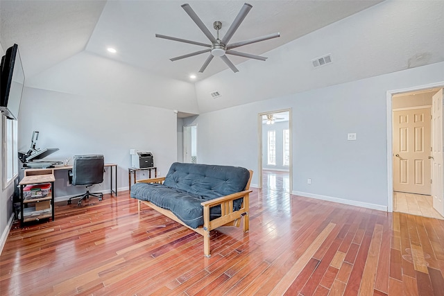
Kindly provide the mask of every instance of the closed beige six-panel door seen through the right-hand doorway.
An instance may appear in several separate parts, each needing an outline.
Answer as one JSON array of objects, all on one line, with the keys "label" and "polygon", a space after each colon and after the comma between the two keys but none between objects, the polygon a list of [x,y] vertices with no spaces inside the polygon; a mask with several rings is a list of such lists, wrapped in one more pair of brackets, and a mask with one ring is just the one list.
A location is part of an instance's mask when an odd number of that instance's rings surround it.
[{"label": "closed beige six-panel door seen through the right-hand doorway", "polygon": [[431,195],[430,108],[393,112],[393,189]]}]

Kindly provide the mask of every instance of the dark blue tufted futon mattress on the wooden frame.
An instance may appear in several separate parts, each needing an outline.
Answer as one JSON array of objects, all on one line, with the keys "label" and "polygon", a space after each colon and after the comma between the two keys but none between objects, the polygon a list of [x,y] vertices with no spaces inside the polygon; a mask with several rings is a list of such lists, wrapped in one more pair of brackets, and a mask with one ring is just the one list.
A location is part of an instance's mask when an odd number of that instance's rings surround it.
[{"label": "dark blue tufted futon mattress on the wooden frame", "polygon": [[[246,168],[207,164],[171,165],[164,184],[137,183],[131,186],[131,198],[147,200],[168,209],[192,228],[203,225],[203,207],[207,200],[243,191],[250,172]],[[234,210],[242,198],[234,200]],[[210,219],[221,216],[221,207],[210,209]]]}]

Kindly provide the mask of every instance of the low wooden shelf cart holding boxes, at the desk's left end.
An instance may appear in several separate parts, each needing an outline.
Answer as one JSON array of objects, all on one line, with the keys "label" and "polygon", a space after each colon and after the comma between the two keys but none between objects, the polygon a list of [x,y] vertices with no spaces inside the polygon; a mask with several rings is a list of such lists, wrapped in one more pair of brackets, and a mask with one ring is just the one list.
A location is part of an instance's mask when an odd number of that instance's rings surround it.
[{"label": "low wooden shelf cart holding boxes, at the desk's left end", "polygon": [[[24,177],[20,182],[20,227],[23,227],[23,224],[31,221],[39,221],[44,218],[52,218],[54,220],[54,182],[56,179],[53,174],[47,175],[28,175]],[[26,185],[31,184],[42,184],[42,183],[50,183],[51,189],[46,196],[41,196],[39,198],[24,198],[23,190]],[[51,212],[48,213],[46,211],[37,211],[37,204],[39,202],[47,202],[50,200],[51,204]],[[31,209],[28,212],[28,216],[25,217],[24,213],[24,205],[26,204],[26,209]],[[35,204],[35,207],[28,207],[28,204]]]}]

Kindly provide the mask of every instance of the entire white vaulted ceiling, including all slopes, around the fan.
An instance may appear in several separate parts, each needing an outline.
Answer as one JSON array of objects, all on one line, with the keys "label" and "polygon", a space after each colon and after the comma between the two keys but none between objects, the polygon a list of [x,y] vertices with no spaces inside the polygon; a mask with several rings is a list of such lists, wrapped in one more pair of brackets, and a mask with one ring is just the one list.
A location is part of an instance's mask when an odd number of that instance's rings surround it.
[{"label": "entire white vaulted ceiling, including all slopes, around the fan", "polygon": [[[244,5],[237,0],[188,2],[210,32],[215,33],[213,22],[221,21],[221,37]],[[208,53],[169,59],[201,46],[155,37],[208,42],[183,3],[1,0],[0,42],[4,50],[19,44],[30,87],[89,92],[190,114],[444,61],[444,1],[251,0],[253,8],[230,42],[279,32],[281,37],[237,49],[268,60],[230,55],[239,72],[214,58],[198,73]],[[314,68],[311,60],[327,53],[333,62]],[[88,77],[82,77],[85,68]],[[190,74],[197,78],[191,80]],[[212,98],[214,91],[222,97]]]}]

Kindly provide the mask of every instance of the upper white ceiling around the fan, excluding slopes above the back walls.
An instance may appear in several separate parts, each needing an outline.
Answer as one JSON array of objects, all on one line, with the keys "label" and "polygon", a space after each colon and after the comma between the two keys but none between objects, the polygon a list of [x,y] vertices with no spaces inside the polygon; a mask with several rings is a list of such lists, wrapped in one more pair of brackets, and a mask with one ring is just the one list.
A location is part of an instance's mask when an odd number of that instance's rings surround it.
[{"label": "upper white ceiling around the fan, excluding slopes above the back walls", "polygon": [[[348,1],[248,1],[253,5],[231,42],[280,32],[281,37],[238,51],[264,54],[328,24],[369,8],[381,0]],[[200,46],[155,38],[155,33],[207,43],[200,29],[180,7],[183,1],[10,1],[0,2],[0,41],[3,49],[19,44],[27,78],[89,51],[141,67],[161,76],[189,82],[210,77],[228,67],[214,58],[198,73],[207,53],[171,62],[169,58],[200,49]],[[221,21],[224,35],[244,1],[188,1],[203,23]],[[108,53],[108,47],[117,53]],[[229,56],[234,64],[246,58]],[[264,63],[253,60],[255,63]],[[272,63],[267,60],[265,63]],[[234,73],[233,73],[234,75]]]}]

